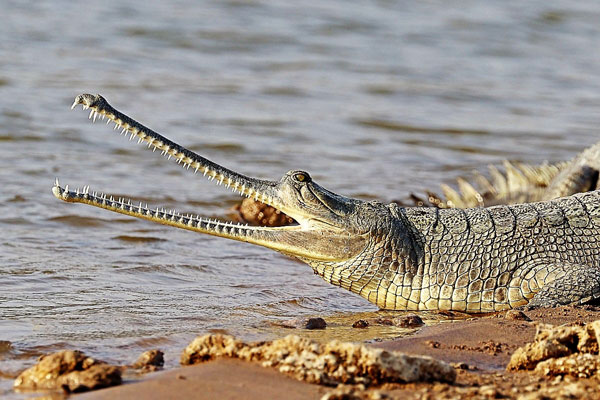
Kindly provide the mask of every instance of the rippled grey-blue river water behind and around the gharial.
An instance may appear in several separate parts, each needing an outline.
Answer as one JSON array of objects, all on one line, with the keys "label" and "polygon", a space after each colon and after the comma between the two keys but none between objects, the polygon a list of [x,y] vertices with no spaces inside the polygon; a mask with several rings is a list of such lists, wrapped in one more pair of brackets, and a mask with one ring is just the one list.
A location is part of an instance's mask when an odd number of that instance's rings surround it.
[{"label": "rippled grey-blue river water behind and around the gharial", "polygon": [[[158,347],[173,366],[200,333],[262,339],[290,332],[273,326],[290,318],[335,325],[376,315],[267,249],[56,200],[55,177],[223,219],[238,201],[71,111],[78,93],[101,93],[244,174],[306,169],[335,192],[382,201],[505,158],[568,159],[600,137],[597,1],[6,0],[1,8],[8,377],[65,347],[121,363]],[[402,334],[338,331],[353,340]]]}]

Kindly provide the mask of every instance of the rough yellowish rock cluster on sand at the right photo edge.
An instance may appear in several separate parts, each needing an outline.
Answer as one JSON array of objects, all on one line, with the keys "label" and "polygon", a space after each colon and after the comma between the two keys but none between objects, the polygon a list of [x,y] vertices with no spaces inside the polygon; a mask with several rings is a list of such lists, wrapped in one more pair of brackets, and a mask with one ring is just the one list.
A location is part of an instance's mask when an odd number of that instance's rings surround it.
[{"label": "rough yellowish rock cluster on sand at the right photo edge", "polygon": [[535,339],[517,349],[509,371],[533,370],[546,375],[588,377],[600,369],[600,320],[585,326],[537,326]]}]

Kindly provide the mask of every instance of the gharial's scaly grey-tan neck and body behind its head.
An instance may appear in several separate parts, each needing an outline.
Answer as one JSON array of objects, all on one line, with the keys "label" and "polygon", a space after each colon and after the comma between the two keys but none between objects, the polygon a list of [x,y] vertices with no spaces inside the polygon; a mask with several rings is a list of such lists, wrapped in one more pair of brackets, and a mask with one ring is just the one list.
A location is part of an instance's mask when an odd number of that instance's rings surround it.
[{"label": "gharial's scaly grey-tan neck and body behind its head", "polygon": [[305,261],[384,309],[491,312],[532,298],[534,306],[555,306],[599,297],[600,192],[480,209],[390,210],[382,219],[389,225],[350,263]]}]

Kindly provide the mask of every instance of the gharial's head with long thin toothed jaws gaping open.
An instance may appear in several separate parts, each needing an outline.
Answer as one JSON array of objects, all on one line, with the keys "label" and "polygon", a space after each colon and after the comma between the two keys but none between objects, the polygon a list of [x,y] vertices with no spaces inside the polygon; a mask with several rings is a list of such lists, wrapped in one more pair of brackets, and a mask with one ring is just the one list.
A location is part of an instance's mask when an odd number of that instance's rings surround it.
[{"label": "gharial's head with long thin toothed jaws gaping open", "polygon": [[58,180],[52,192],[67,202],[85,203],[114,212],[148,219],[196,232],[262,245],[305,261],[344,262],[360,254],[370,242],[374,203],[351,199],[332,193],[315,183],[304,171],[290,171],[279,181],[254,179],[231,171],[201,157],[146,128],[137,121],[114,109],[100,95],[82,94],[76,97],[72,108],[82,105],[91,109],[90,119],[107,119],[123,134],[137,137],[148,148],[159,149],[168,158],[210,180],[224,184],[233,191],[275,207],[292,217],[297,224],[285,227],[248,226],[238,223],[209,220],[199,216],[182,215],[165,210],[151,210],[130,200],[90,193],[89,187],[69,191]]}]

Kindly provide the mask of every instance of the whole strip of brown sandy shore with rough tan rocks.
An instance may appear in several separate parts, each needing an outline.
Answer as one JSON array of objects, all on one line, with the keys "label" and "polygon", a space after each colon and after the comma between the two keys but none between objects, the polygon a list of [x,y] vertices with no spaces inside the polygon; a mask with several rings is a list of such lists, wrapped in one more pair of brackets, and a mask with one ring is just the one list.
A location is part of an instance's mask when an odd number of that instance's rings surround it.
[{"label": "whole strip of brown sandy shore with rough tan rocks", "polygon": [[[317,343],[295,335],[245,343],[196,338],[176,370],[131,380],[134,366],[109,366],[76,351],[41,358],[16,380],[52,398],[598,398],[600,308],[509,311],[424,326],[415,335],[370,345]],[[145,355],[135,367],[159,369]],[[150,357],[152,356],[152,357]],[[169,355],[167,355],[169,356]],[[170,355],[171,357],[173,355]],[[66,360],[66,361],[65,361]],[[118,375],[118,376],[117,376]],[[106,378],[94,383],[93,379]],[[104,388],[106,386],[119,385]],[[43,392],[42,392],[43,393]],[[41,393],[40,393],[41,394]],[[57,397],[58,396],[58,397]]]}]

